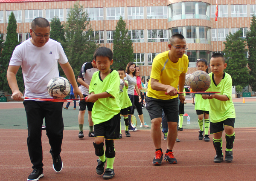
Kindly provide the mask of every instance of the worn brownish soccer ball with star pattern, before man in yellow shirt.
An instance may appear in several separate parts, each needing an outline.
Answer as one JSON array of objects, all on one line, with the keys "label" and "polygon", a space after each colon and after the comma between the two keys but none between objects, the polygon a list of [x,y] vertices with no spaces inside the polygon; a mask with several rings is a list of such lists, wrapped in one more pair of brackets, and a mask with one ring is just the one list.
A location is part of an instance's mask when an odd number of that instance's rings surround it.
[{"label": "worn brownish soccer ball with star pattern, before man in yellow shirt", "polygon": [[209,89],[210,84],[210,76],[202,70],[195,71],[189,77],[189,86],[195,92],[206,91],[207,89]]}]

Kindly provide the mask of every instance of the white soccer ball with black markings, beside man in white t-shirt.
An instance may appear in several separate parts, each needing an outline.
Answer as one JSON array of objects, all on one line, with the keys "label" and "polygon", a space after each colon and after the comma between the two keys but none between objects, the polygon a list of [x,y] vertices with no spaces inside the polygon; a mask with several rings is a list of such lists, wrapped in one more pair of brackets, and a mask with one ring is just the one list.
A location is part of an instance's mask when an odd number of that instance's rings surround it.
[{"label": "white soccer ball with black markings, beside man in white t-shirt", "polygon": [[63,99],[70,93],[70,83],[66,78],[55,77],[47,84],[49,95],[55,99]]}]

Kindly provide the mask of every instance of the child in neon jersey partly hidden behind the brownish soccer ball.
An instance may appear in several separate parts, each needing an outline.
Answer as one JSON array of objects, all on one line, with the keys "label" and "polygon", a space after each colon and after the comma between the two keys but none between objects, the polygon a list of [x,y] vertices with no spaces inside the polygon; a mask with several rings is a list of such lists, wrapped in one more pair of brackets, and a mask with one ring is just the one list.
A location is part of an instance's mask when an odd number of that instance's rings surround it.
[{"label": "child in neon jersey partly hidden behind the brownish soccer ball", "polygon": [[[197,60],[197,67],[198,70],[202,70],[204,72],[208,73],[208,64],[207,61],[204,58]],[[198,115],[198,125],[199,125],[199,136],[198,139],[202,140],[204,138],[204,141],[210,141],[208,131],[210,126],[210,120],[209,120],[209,100],[204,100],[202,98],[202,95],[196,94],[195,95],[195,110],[196,114]],[[203,128],[204,125],[204,128]]]}]

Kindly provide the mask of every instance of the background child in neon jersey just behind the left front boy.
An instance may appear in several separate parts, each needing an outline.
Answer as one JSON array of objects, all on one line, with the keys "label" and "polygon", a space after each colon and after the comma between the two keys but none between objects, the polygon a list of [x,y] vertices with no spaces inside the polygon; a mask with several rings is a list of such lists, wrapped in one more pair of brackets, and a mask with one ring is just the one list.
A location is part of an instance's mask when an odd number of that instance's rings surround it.
[{"label": "background child in neon jersey just behind the left front boy", "polygon": [[[124,116],[125,135],[126,135],[126,137],[130,137],[131,134],[129,133],[129,130],[128,130],[128,126],[129,126],[128,115],[131,114],[130,107],[132,106],[132,103],[131,103],[131,100],[128,96],[128,90],[127,90],[128,89],[128,81],[124,80],[124,78],[126,77],[125,69],[120,68],[120,69],[117,70],[117,72],[119,74],[119,78],[121,80],[123,80],[124,83],[125,83],[124,88],[122,89],[122,91],[119,92],[119,100],[120,100],[119,106],[121,108],[121,114]],[[120,126],[121,126],[121,124],[120,124]],[[122,138],[121,128],[120,128],[119,138]]]}]

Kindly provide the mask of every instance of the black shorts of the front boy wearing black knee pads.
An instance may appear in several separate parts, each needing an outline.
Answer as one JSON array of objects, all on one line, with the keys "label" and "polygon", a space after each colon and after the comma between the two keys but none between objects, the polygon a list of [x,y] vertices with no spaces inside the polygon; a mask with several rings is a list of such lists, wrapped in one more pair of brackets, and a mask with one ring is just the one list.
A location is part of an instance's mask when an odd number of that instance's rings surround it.
[{"label": "black shorts of the front boy wearing black knee pads", "polygon": [[119,139],[120,133],[120,114],[114,115],[108,121],[94,125],[94,137],[105,137],[108,140]]}]

